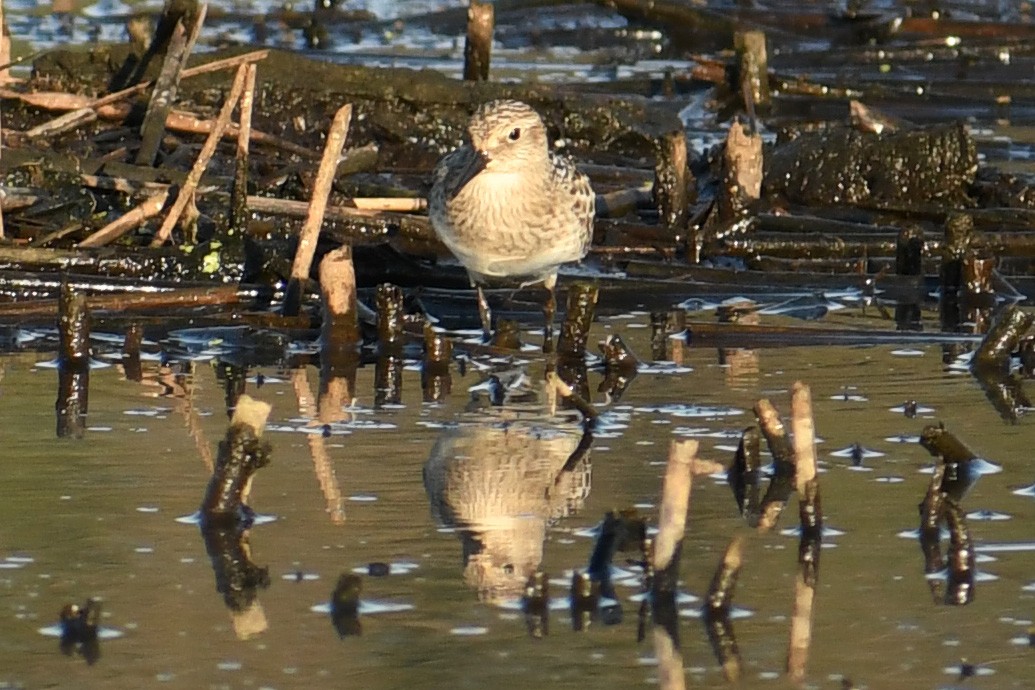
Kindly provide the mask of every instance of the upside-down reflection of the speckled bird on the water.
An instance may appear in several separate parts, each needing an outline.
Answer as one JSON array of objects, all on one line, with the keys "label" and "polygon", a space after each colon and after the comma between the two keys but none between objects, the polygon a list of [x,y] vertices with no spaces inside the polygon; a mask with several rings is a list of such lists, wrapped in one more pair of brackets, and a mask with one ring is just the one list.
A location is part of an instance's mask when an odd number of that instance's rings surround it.
[{"label": "upside-down reflection of the speckled bird on the water", "polygon": [[592,436],[509,411],[443,430],[424,463],[432,514],[463,545],[464,579],[489,603],[519,598],[550,524],[589,496]]}]

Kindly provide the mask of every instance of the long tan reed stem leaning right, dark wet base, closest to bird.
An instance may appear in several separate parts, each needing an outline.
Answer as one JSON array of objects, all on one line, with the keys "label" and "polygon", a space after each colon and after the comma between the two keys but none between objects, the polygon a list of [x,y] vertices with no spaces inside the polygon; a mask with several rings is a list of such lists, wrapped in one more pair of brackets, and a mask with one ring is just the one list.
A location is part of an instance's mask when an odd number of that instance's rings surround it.
[{"label": "long tan reed stem leaning right, dark wet base, closest to bird", "polygon": [[309,211],[299,231],[298,248],[295,250],[295,261],[291,265],[291,279],[284,300],[285,316],[297,316],[301,309],[302,284],[308,278],[309,269],[313,267],[317,241],[320,239],[320,228],[323,226],[324,213],[327,210],[327,199],[337,172],[337,159],[342,155],[351,122],[352,104],[346,103],[334,114],[330,129],[327,131],[327,144],[324,146],[320,168],[313,182]]}]

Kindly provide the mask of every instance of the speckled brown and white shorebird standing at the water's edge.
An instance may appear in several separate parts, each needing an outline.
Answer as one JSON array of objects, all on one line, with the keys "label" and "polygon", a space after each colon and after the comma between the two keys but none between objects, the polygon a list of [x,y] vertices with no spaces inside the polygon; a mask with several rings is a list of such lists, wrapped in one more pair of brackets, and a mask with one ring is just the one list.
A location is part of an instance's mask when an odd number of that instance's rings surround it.
[{"label": "speckled brown and white shorebird standing at the water's edge", "polygon": [[596,197],[589,178],[550,150],[542,119],[526,103],[484,103],[471,116],[467,133],[435,168],[427,204],[432,227],[477,288],[486,340],[492,316],[482,284],[493,278],[520,278],[522,287],[542,282],[549,350],[557,269],[589,251]]}]

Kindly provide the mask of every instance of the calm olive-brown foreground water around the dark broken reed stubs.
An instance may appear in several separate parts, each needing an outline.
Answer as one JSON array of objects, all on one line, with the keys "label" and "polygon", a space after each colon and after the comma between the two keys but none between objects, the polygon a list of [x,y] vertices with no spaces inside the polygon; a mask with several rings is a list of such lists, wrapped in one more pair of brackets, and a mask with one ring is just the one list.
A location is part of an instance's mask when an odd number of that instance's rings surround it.
[{"label": "calm olive-brown foreground water around the dark broken reed stubs", "polygon": [[[619,332],[644,354],[645,327],[646,317],[611,320],[594,337]],[[324,438],[304,432],[299,412],[299,392],[304,410],[306,389],[317,389],[316,370],[263,370],[264,384],[249,383],[247,392],[273,406],[273,453],[257,475],[252,503],[275,519],[250,534],[252,558],[269,567],[271,583],[258,596],[261,616],[253,611],[250,619],[264,618],[266,630],[247,639],[235,632],[215,591],[198,529],[177,521],[197,508],[208,477],[202,451],[214,452],[225,429],[224,388],[211,362],[196,362],[180,388],[127,382],[117,366],[95,369],[90,429],[71,442],[54,438],[56,373],[40,364],[47,357],[7,356],[0,384],[6,451],[0,684],[654,685],[651,637],[637,642],[632,580],[618,587],[621,624],[595,623],[576,633],[561,608],[543,639],[529,637],[504,580],[541,559],[553,595],[566,594],[569,571],[588,561],[588,531],[607,510],[634,505],[656,517],[671,439],[697,438],[703,456],[729,462],[736,442],[724,432],[751,422],[759,397],[786,412],[791,384],[803,380],[812,387],[822,437],[827,523],[844,533],[827,539],[822,556],[808,672],[814,687],[836,687],[840,674],[865,687],[950,687],[962,658],[981,673],[968,687],[1031,687],[1035,553],[990,554],[995,560],[978,567],[994,579],[978,582],[971,605],[949,607],[931,601],[916,539],[898,536],[917,524],[928,477],[922,470],[930,464],[918,444],[899,437],[942,420],[1003,468],[983,476],[965,501],[969,513],[1003,517],[973,515],[973,538],[979,545],[1031,540],[1025,526],[1035,500],[1012,492],[1035,480],[1027,424],[1004,424],[968,376],[945,370],[937,347],[741,352],[728,366],[717,364],[714,350],[684,354],[691,370],[643,373],[604,408],[610,423],[595,441],[592,467],[580,468],[578,481],[553,504],[543,499],[543,478],[553,476],[551,468],[556,473],[558,457],[563,464],[576,427],[527,407],[465,413],[468,389],[483,374],[461,377],[454,368],[447,400],[427,406],[419,373],[407,370],[403,404],[374,410],[373,367],[362,368],[351,424]],[[529,359],[534,380],[543,363]],[[145,368],[153,381],[158,364]],[[591,372],[591,386],[598,382]],[[892,410],[909,399],[921,406],[916,419]],[[505,430],[501,415],[509,421]],[[852,444],[882,455],[853,469],[850,458],[834,454]],[[320,478],[319,446],[332,470]],[[344,521],[335,523],[338,508]],[[793,527],[794,517],[785,515],[781,528]],[[482,579],[464,567],[471,535],[459,532],[457,522],[481,531],[476,537],[491,552]],[[703,593],[730,537],[744,530],[726,484],[701,478],[684,547],[688,593]],[[745,687],[785,687],[796,547],[795,538],[776,534],[748,542],[735,603],[749,616],[734,622]],[[400,573],[363,576],[361,634],[339,638],[327,613],[313,607],[328,601],[342,572],[372,562],[393,564]],[[93,666],[61,656],[58,640],[39,632],[62,605],[89,597],[103,600],[105,625],[121,633],[101,641]],[[400,604],[412,608],[367,612]],[[726,687],[701,622],[690,618],[697,606],[682,605],[687,682]]]}]

